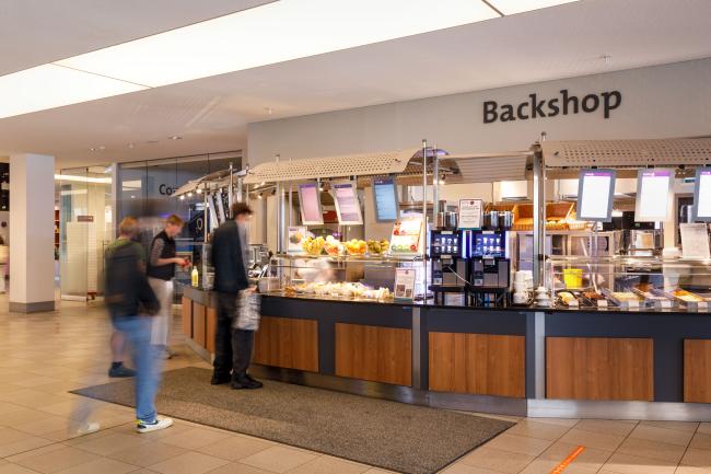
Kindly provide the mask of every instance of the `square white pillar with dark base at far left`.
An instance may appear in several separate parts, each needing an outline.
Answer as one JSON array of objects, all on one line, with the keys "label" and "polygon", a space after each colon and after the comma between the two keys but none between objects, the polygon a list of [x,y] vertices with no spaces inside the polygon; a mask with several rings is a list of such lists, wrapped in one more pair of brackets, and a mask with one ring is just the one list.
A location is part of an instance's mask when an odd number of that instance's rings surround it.
[{"label": "square white pillar with dark base at far left", "polygon": [[10,311],[55,309],[55,158],[10,155]]}]

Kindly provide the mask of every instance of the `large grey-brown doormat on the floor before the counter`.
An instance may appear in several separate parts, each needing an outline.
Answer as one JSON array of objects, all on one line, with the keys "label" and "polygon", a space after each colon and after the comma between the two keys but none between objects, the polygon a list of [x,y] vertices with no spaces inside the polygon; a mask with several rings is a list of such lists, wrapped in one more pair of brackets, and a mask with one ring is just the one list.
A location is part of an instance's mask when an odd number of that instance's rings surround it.
[{"label": "large grey-brown doormat on the floor before the counter", "polygon": [[[474,415],[265,381],[261,390],[210,385],[207,369],[164,373],[163,415],[407,474],[432,474],[512,426]],[[133,406],[133,382],[73,393]]]}]

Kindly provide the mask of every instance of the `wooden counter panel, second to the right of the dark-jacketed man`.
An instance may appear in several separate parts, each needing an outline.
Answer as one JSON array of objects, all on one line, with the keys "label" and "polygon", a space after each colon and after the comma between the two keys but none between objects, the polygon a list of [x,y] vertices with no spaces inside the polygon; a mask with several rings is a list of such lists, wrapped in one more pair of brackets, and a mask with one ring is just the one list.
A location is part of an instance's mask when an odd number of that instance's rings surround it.
[{"label": "wooden counter panel, second to the right of the dark-jacketed man", "polygon": [[412,332],[337,323],[336,375],[411,385]]}]

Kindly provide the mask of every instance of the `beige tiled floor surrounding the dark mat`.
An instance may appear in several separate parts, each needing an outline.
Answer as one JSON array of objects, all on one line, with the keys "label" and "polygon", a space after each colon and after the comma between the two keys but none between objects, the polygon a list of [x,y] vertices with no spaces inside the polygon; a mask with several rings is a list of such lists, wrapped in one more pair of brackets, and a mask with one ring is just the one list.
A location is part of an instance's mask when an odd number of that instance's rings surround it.
[{"label": "beige tiled floor surrounding the dark mat", "polygon": [[[386,471],[263,439],[177,421],[137,435],[132,411],[69,390],[108,381],[103,310],[61,304],[54,313],[9,314],[0,297],[0,474],[383,474]],[[177,342],[167,370],[208,367]],[[93,411],[103,429],[71,438]],[[510,418],[508,418],[510,419]],[[576,447],[564,474],[711,474],[711,424],[515,419],[505,433],[446,474],[549,474]]]}]

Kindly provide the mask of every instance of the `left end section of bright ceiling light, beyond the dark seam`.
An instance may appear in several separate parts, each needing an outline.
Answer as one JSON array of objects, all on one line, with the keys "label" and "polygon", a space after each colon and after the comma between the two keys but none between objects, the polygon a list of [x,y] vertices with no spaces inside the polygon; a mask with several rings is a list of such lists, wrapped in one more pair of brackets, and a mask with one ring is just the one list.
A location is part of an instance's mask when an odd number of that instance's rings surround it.
[{"label": "left end section of bright ceiling light, beyond the dark seam", "polygon": [[43,65],[0,76],[0,118],[148,89],[117,79]]}]

